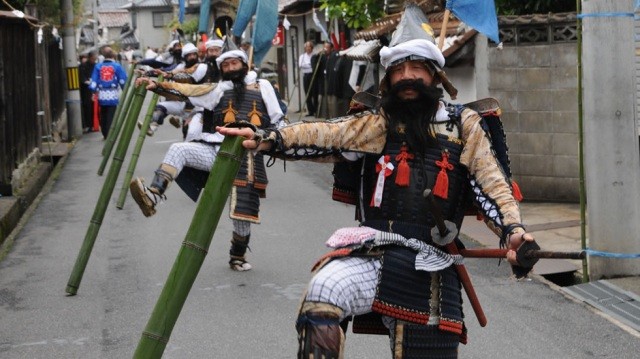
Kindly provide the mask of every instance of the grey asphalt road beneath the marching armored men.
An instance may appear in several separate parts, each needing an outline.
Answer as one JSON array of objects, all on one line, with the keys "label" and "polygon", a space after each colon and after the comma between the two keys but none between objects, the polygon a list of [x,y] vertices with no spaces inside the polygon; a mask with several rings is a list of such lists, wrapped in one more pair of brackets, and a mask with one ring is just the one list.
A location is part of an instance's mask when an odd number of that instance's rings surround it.
[{"label": "grey asphalt road beneath the marching armored men", "polygon": [[[134,134],[135,141],[137,130]],[[173,141],[169,124],[148,138],[136,175],[148,179]],[[128,157],[78,295],[65,287],[104,178],[102,137],[86,135],[0,262],[0,358],[128,358],[167,280],[195,210],[177,186],[145,218],[129,197],[115,208]],[[130,150],[133,145],[130,146]],[[228,268],[231,221],[223,214],[173,329],[165,358],[294,358],[294,323],[324,241],[352,226],[353,208],[330,198],[330,167],[278,161],[269,168],[262,224],[253,227],[250,272]],[[461,358],[637,358],[640,340],[546,284],[509,279],[496,260],[467,260],[489,324],[466,305]],[[389,358],[384,336],[347,334],[346,358]]]}]

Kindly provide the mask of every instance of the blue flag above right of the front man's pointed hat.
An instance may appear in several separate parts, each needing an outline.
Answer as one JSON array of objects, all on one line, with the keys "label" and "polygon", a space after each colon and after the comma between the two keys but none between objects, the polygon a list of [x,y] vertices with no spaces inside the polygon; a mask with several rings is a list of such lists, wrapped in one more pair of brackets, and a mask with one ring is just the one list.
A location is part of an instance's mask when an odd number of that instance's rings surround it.
[{"label": "blue flag above right of the front man's pointed hat", "polygon": [[500,43],[498,17],[493,0],[447,0],[446,8],[491,41]]}]

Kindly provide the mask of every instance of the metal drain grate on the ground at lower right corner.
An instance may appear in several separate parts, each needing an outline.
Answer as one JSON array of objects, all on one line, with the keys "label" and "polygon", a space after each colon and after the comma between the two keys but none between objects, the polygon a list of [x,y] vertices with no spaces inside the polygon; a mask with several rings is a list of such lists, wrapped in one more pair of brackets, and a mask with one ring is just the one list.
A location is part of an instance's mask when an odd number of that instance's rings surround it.
[{"label": "metal drain grate on the ground at lower right corner", "polygon": [[563,287],[562,290],[640,331],[640,297],[637,295],[606,280]]}]

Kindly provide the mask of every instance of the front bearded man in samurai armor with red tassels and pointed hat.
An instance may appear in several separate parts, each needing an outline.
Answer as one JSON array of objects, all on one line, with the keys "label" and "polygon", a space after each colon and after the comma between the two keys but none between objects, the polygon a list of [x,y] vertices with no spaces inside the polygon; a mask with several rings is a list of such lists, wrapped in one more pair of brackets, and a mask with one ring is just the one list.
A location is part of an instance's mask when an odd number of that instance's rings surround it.
[{"label": "front bearded man in samurai armor with red tassels and pointed hat", "polygon": [[[351,188],[340,199],[356,204],[359,226],[336,231],[327,241],[335,250],[314,268],[296,322],[298,358],[342,358],[351,318],[386,331],[393,358],[457,358],[467,328],[453,248],[466,205],[510,249],[514,268],[514,250],[534,239],[485,119],[443,100],[445,60],[417,5],[406,6],[380,63],[380,104],[370,111],[277,130],[218,128],[258,153],[351,165],[334,176]],[[432,231],[439,220],[451,236]]]}]

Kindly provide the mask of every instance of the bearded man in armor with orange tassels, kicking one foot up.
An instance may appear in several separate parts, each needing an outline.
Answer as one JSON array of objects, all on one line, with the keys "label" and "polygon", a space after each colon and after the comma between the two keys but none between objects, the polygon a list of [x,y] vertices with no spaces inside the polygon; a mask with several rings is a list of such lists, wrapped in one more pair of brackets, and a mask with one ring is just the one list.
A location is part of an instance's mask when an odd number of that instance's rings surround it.
[{"label": "bearded man in armor with orange tassels, kicking one foot up", "polygon": [[[166,199],[164,193],[174,179],[190,198],[197,200],[224,139],[215,131],[216,126],[236,122],[251,123],[264,130],[282,126],[283,113],[273,87],[267,80],[257,80],[255,72],[248,71],[247,56],[242,50],[230,48],[216,63],[223,80],[217,84],[187,85],[138,79],[138,84],[148,82],[147,89],[158,94],[212,111],[212,116],[203,117],[202,132],[193,141],[171,145],[148,187],[142,178],[131,181],[131,195],[147,217],[155,214],[160,200]],[[247,152],[231,191],[229,216],[234,230],[229,265],[233,270],[251,269],[245,253],[251,223],[260,223],[260,198],[265,197],[267,183],[263,155]]]}]

